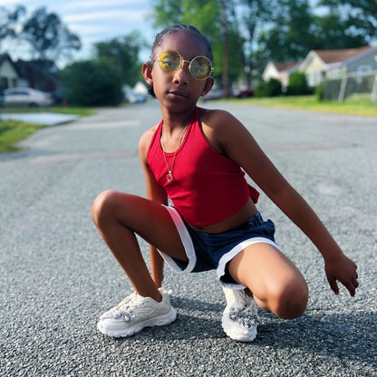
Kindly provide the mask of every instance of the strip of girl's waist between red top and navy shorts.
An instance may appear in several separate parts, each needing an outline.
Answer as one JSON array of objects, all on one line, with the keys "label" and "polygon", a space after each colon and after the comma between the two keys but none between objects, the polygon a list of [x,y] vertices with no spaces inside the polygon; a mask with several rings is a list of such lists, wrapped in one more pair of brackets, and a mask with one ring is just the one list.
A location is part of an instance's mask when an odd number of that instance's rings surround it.
[{"label": "strip of girl's waist between red top and navy shorts", "polygon": [[252,218],[255,215],[256,205],[249,198],[247,200],[247,204],[230,218],[226,218],[225,220],[205,227],[198,227],[191,224],[189,224],[189,226],[195,230],[198,230],[199,232],[222,233],[226,232],[229,229],[232,229],[233,227],[238,227],[239,225],[245,223],[247,219]]}]

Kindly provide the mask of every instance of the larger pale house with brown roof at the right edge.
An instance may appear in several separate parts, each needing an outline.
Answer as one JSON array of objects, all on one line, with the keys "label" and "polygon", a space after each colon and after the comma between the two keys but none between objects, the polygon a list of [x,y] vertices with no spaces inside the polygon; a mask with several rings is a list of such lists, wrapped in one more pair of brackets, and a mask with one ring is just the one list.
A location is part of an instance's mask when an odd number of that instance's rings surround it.
[{"label": "larger pale house with brown roof at the right edge", "polygon": [[313,50],[307,54],[299,70],[306,74],[307,82],[312,87],[324,79],[340,79],[346,73],[362,77],[377,71],[377,46]]}]

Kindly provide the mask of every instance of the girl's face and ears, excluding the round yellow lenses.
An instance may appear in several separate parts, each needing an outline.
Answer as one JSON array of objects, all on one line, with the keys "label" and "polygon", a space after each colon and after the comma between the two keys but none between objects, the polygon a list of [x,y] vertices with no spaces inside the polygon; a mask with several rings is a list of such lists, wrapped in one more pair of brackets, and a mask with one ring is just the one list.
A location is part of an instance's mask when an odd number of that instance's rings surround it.
[{"label": "girl's face and ears, excluding the round yellow lenses", "polygon": [[198,98],[209,92],[213,79],[200,81],[189,73],[189,63],[184,63],[177,71],[166,73],[160,68],[157,59],[163,51],[175,50],[184,60],[191,61],[196,56],[206,56],[207,49],[197,35],[189,31],[168,34],[154,50],[152,66],[143,65],[146,82],[153,85],[153,90],[160,104],[169,110],[184,111],[195,106]]}]

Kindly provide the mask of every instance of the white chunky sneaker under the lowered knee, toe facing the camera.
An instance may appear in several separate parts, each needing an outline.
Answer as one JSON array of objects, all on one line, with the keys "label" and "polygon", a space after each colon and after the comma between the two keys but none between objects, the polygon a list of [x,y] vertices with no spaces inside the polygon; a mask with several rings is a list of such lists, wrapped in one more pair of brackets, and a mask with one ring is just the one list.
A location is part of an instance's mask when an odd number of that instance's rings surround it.
[{"label": "white chunky sneaker under the lowered knee, toe facing the camera", "polygon": [[221,324],[227,336],[238,342],[251,342],[256,338],[256,327],[260,323],[257,305],[245,290],[229,289],[223,286],[227,299]]}]

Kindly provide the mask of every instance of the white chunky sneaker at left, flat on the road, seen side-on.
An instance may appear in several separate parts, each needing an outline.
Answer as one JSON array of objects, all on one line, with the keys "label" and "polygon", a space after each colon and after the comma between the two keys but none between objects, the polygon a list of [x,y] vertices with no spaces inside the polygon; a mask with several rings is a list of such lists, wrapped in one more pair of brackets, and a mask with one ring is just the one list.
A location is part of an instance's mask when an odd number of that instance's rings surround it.
[{"label": "white chunky sneaker at left, flat on the road, seen side-on", "polygon": [[[161,292],[161,290],[160,290]],[[139,333],[144,327],[163,326],[175,321],[177,313],[170,305],[169,294],[161,292],[158,303],[150,297],[132,294],[100,317],[101,333],[120,338]]]}]

